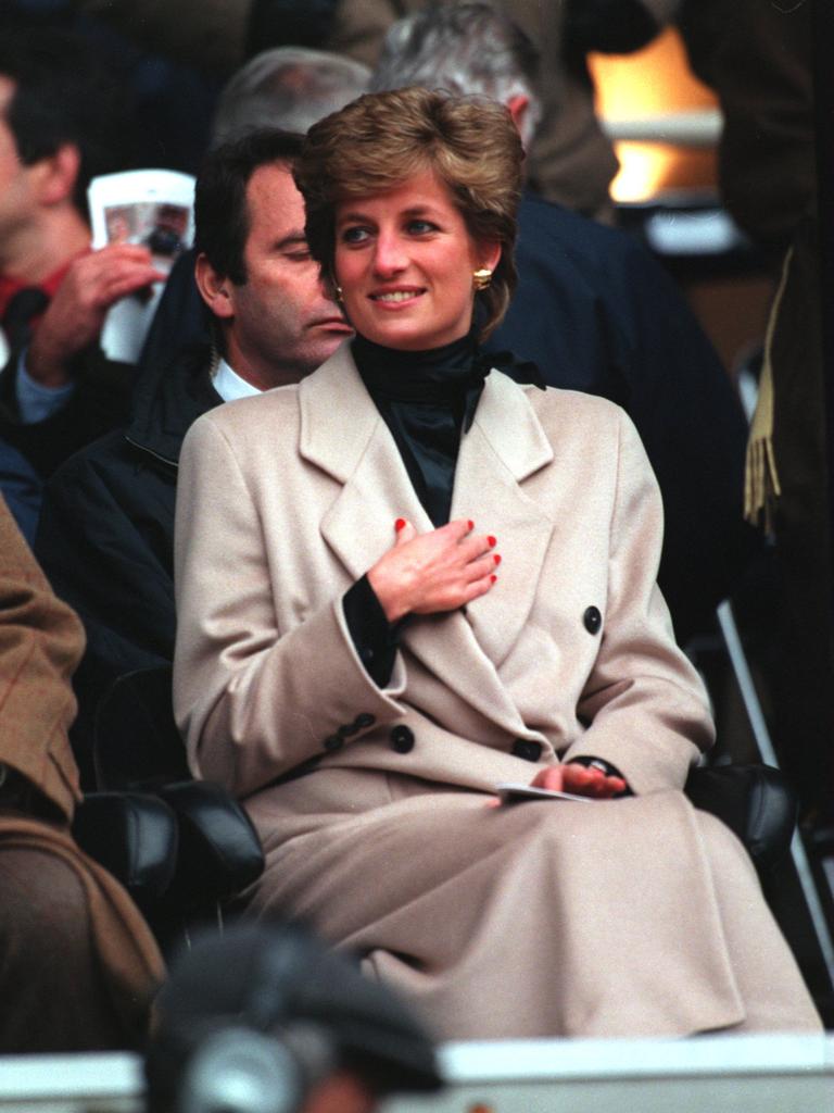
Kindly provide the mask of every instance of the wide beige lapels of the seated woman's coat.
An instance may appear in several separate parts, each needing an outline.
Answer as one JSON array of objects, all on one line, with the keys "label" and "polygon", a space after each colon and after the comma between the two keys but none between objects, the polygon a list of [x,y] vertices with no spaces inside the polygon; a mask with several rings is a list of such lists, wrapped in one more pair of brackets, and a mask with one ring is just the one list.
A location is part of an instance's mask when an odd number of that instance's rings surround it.
[{"label": "wide beige lapels of the seated woman's coat", "polygon": [[[299,387],[300,453],[342,484],[321,533],[354,579],[394,543],[394,521],[433,529],[387,425],[342,345]],[[526,392],[500,372],[488,376],[458,456],[453,518],[498,536],[498,582],[466,608],[417,619],[403,640],[444,683],[506,729],[525,730],[497,667],[527,620],[553,521],[522,490],[553,461]]]}]

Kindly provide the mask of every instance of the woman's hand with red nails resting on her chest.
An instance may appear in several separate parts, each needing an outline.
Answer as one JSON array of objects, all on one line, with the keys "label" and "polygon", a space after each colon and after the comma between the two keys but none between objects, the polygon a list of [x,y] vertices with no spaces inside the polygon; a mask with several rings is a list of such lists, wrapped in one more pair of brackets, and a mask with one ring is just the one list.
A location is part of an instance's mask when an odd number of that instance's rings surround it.
[{"label": "woman's hand with red nails resting on her chest", "polygon": [[389,622],[406,614],[454,611],[496,582],[500,556],[496,539],[475,534],[466,519],[430,533],[417,533],[410,522],[395,523],[394,548],[368,572],[368,580]]}]

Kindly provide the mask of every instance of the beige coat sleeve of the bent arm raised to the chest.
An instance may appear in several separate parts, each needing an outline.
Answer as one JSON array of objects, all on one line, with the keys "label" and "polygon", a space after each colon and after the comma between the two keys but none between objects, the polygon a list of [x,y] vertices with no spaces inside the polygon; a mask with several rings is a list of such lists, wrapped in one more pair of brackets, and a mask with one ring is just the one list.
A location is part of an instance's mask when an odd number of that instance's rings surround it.
[{"label": "beige coat sleeve of the bent arm raised to the chest", "polygon": [[401,659],[388,686],[377,688],[340,595],[291,629],[279,628],[279,554],[266,549],[234,445],[206,414],[180,456],[173,706],[195,774],[240,796],[405,712],[397,702]]}]

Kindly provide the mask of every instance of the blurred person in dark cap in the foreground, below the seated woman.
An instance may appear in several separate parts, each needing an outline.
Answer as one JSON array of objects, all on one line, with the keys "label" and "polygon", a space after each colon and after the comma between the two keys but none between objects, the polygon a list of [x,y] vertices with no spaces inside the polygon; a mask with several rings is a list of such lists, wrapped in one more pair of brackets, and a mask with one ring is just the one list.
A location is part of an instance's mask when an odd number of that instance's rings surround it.
[{"label": "blurred person in dark cap in the foreground, below the seated woman", "polygon": [[440,1086],[405,1005],[284,923],[203,935],[173,959],[146,1076],[149,1113],[373,1113]]}]

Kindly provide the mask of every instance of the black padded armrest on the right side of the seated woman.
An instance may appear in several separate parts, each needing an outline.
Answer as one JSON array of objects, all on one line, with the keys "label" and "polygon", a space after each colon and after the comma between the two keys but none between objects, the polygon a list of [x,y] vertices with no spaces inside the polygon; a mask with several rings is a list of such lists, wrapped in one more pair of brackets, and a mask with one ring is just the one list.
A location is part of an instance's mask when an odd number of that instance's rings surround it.
[{"label": "black padded armrest on the right side of the seated woman", "polygon": [[797,798],[778,769],[764,765],[695,768],[684,791],[696,808],[712,812],[738,836],[759,877],[790,848]]}]

